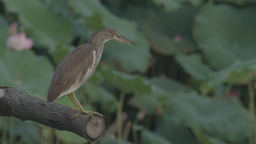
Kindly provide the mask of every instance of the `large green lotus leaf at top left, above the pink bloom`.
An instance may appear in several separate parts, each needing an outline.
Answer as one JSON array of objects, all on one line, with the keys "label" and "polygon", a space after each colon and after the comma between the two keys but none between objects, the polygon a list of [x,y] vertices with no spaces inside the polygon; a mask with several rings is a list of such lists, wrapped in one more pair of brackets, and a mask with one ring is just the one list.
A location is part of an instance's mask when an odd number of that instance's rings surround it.
[{"label": "large green lotus leaf at top left, above the pink bloom", "polygon": [[23,28],[42,46],[53,52],[70,44],[72,25],[54,14],[39,0],[4,0],[6,11],[17,13]]}]

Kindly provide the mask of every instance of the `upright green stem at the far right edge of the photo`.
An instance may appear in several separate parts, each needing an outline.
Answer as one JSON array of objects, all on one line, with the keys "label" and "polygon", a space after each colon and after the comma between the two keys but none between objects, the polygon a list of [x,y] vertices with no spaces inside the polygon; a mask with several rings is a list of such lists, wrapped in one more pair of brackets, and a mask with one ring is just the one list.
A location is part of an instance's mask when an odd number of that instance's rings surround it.
[{"label": "upright green stem at the far right edge of the photo", "polygon": [[255,102],[254,102],[254,90],[253,85],[248,84],[248,92],[249,92],[249,109],[250,109],[250,119],[249,119],[249,129],[250,129],[250,144],[256,143],[256,121],[255,121]]}]

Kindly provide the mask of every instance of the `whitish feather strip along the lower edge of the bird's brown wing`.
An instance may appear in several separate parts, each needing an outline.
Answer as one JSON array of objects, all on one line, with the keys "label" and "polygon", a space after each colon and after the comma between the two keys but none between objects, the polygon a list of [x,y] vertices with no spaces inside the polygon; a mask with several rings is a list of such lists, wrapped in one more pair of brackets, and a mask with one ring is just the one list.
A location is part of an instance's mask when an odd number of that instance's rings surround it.
[{"label": "whitish feather strip along the lower edge of the bird's brown wing", "polygon": [[[93,66],[94,66],[94,63],[95,63],[95,58],[96,58],[96,51],[93,51],[93,59],[94,59],[94,60],[93,60],[93,64],[92,64],[91,68],[87,70],[86,74],[85,74],[84,77],[83,77],[82,82],[79,83],[79,80],[77,80],[77,82],[76,82],[75,85],[73,85],[73,86],[72,86],[71,88],[69,88],[67,91],[64,91],[63,93],[61,93],[60,96],[59,96],[56,100],[62,98],[63,96],[65,96],[65,95],[67,95],[67,94],[69,94],[69,93],[71,93],[71,92],[76,91],[79,87],[81,87],[81,85],[82,85],[84,82],[86,82],[86,81],[93,75],[93,73],[94,73]],[[86,67],[86,66],[85,66],[85,67]],[[78,79],[80,79],[80,76],[81,76],[81,74],[79,75],[79,78],[78,78]],[[64,85],[65,85],[65,84],[64,84]]]}]

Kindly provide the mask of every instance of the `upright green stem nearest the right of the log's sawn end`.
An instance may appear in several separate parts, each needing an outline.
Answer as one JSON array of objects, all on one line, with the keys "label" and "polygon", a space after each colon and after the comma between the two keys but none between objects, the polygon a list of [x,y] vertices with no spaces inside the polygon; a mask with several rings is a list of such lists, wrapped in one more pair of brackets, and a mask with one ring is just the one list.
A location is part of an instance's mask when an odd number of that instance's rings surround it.
[{"label": "upright green stem nearest the right of the log's sawn end", "polygon": [[125,97],[125,94],[121,93],[120,100],[118,103],[118,108],[117,108],[118,144],[122,144],[122,111],[123,111],[124,97]]}]

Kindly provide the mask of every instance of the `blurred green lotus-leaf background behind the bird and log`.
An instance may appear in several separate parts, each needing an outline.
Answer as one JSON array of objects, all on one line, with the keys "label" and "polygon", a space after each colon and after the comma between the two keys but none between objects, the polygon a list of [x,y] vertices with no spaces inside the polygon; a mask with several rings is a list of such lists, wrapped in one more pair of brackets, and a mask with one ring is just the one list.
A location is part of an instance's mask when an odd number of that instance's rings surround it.
[{"label": "blurred green lotus-leaf background behind the bird and log", "polygon": [[[256,144],[255,0],[0,0],[0,85],[46,99],[61,59],[106,27],[138,46],[107,42],[76,91],[106,116],[97,143]],[[0,117],[0,143],[91,142]]]}]

